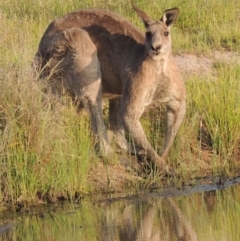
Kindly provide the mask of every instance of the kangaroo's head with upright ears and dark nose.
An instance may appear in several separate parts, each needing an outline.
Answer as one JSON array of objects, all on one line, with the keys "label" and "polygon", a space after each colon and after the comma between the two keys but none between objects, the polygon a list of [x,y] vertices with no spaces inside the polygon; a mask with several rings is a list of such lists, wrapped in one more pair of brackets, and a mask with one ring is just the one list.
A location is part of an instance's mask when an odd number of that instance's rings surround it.
[{"label": "kangaroo's head with upright ears and dark nose", "polygon": [[153,20],[136,6],[133,6],[133,9],[145,25],[145,46],[149,56],[156,58],[168,54],[172,48],[170,26],[176,21],[179,9],[167,9],[159,21]]}]

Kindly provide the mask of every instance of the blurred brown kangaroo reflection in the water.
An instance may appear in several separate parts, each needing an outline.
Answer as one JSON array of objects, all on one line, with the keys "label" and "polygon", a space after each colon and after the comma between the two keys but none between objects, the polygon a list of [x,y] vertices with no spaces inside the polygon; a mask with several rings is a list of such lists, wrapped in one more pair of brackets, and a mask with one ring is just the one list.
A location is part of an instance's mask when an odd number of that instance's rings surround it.
[{"label": "blurred brown kangaroo reflection in the water", "polygon": [[134,202],[114,214],[107,210],[106,217],[101,241],[197,240],[191,222],[172,197]]}]

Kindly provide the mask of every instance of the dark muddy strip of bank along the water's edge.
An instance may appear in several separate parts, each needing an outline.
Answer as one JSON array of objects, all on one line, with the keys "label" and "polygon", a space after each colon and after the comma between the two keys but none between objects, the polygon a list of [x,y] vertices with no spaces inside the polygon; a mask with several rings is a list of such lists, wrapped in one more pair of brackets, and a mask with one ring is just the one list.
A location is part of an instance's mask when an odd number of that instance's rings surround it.
[{"label": "dark muddy strip of bank along the water's edge", "polygon": [[[113,173],[114,174],[114,173]],[[115,173],[116,174],[116,173]],[[126,173],[125,173],[126,174]],[[120,175],[115,176],[115,181],[119,178],[118,187],[123,183],[121,178],[129,178],[126,175],[124,176],[123,173]],[[126,181],[126,180],[125,180]],[[121,186],[121,190],[119,192],[99,192],[94,193],[91,195],[85,195],[80,199],[71,200],[70,207],[78,207],[82,201],[87,201],[94,205],[102,206],[106,204],[112,204],[114,202],[119,202],[121,200],[126,201],[148,201],[151,199],[158,199],[158,198],[171,198],[171,197],[178,197],[178,196],[189,196],[195,193],[204,193],[204,192],[211,192],[217,190],[225,190],[228,187],[233,185],[240,184],[240,176],[237,177],[223,177],[223,176],[206,176],[202,178],[196,178],[193,180],[189,180],[188,183],[183,183],[180,186],[172,186],[167,184],[164,187],[158,187],[157,185],[149,186],[148,189],[144,191],[138,191],[136,193],[127,193],[124,192],[123,187]],[[39,216],[44,217],[47,213],[50,212],[57,212],[64,209],[68,209],[68,202],[67,198],[63,199],[63,197],[58,197],[53,203],[42,202],[41,205],[32,205],[32,206],[22,206],[21,209],[17,210],[18,212],[15,213],[12,210],[5,210],[0,212],[0,234],[5,233],[9,229],[14,228],[16,223],[12,222],[12,219],[16,217],[25,217],[25,216]],[[45,204],[45,205],[43,205]],[[73,206],[72,206],[73,205]],[[16,210],[15,210],[16,211]],[[2,222],[1,222],[2,221]]]}]

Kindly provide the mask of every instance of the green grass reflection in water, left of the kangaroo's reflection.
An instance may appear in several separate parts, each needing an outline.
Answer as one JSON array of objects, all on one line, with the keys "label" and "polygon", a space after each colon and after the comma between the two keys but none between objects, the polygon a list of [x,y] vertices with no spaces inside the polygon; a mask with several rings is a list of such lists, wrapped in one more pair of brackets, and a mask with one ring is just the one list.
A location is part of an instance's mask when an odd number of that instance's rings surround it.
[{"label": "green grass reflection in water, left of the kangaroo's reflection", "polygon": [[[2,240],[9,237],[25,241],[30,240],[100,240],[104,235],[105,223],[102,219],[103,210],[90,203],[82,203],[77,210],[73,207],[64,206],[63,209],[50,207],[49,209],[33,210],[33,215],[26,218],[22,215],[21,222],[18,217],[16,229],[13,233],[3,234]],[[102,222],[101,222],[102,221]],[[104,240],[104,239],[102,239]]]}]

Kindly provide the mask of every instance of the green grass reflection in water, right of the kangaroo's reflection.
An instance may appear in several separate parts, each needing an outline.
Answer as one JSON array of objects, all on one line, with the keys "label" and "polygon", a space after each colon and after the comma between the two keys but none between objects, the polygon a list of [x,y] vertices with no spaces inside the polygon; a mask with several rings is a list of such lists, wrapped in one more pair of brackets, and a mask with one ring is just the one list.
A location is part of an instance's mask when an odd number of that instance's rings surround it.
[{"label": "green grass reflection in water, right of the kangaroo's reflection", "polygon": [[239,186],[232,186],[222,191],[179,197],[178,203],[198,240],[235,241],[240,235],[239,198]]}]

